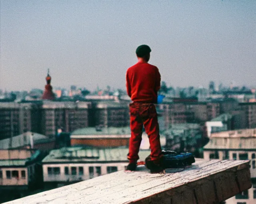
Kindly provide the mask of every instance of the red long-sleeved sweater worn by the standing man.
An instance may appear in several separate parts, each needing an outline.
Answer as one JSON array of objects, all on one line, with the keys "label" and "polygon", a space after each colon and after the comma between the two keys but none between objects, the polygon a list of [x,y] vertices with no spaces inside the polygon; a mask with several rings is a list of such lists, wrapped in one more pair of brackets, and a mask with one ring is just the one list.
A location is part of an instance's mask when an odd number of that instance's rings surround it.
[{"label": "red long-sleeved sweater worn by the standing man", "polygon": [[156,66],[139,62],[126,71],[126,90],[134,102],[157,103],[161,76]]}]

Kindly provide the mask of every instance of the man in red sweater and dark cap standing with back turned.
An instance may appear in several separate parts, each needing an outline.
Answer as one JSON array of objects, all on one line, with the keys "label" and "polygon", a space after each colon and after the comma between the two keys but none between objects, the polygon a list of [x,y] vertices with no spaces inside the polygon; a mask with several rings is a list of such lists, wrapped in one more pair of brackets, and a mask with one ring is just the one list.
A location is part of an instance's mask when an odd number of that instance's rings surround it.
[{"label": "man in red sweater and dark cap standing with back turned", "polygon": [[140,45],[136,49],[138,63],[130,67],[126,72],[126,90],[131,97],[130,104],[130,128],[131,138],[129,143],[129,165],[126,170],[134,171],[137,166],[138,152],[142,140],[142,128],[150,142],[150,159],[154,169],[152,173],[162,172],[162,149],[160,145],[159,125],[156,107],[157,92],[160,89],[161,76],[156,66],[148,63],[151,49],[148,45]]}]

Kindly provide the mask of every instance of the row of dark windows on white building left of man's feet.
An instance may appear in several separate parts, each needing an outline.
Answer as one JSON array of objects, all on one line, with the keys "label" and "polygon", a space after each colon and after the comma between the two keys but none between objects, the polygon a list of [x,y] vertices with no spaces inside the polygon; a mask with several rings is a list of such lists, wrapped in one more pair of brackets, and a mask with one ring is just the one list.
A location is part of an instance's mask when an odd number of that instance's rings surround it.
[{"label": "row of dark windows on white building left of man's feet", "polygon": [[[101,167],[96,168],[96,175],[101,175]],[[71,171],[70,171],[71,170]],[[84,167],[71,167],[69,170],[68,167],[64,167],[65,175],[84,175]],[[47,168],[48,175],[60,175],[60,167],[48,167]],[[107,167],[107,173],[116,172],[117,167]],[[94,176],[94,167],[89,167],[89,175],[90,177]]]}]

